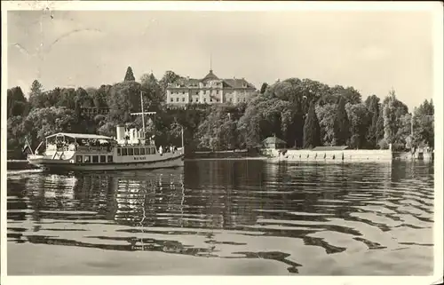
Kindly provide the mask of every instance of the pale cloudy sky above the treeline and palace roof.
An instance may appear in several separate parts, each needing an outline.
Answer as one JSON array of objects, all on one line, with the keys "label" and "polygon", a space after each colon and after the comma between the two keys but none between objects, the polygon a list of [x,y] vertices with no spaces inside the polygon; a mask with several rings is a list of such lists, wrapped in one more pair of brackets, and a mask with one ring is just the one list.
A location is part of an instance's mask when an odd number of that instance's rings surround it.
[{"label": "pale cloudy sky above the treeline and palace roof", "polygon": [[[8,12],[8,88],[99,87],[166,70],[242,78],[258,89],[289,77],[393,88],[411,110],[432,99],[429,12]],[[211,60],[210,60],[211,59]]]}]

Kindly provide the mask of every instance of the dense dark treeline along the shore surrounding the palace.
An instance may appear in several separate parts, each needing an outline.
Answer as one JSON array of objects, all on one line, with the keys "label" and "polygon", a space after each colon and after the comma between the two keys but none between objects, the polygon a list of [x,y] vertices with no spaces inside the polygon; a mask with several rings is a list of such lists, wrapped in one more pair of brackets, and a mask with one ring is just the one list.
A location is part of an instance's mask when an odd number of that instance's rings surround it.
[{"label": "dense dark treeline along the shore surrounding the palace", "polygon": [[[169,109],[165,101],[168,83],[186,80],[168,71],[158,81],[142,75],[136,82],[128,67],[123,82],[99,88],[54,88],[44,91],[34,81],[28,99],[20,87],[7,92],[8,155],[20,156],[25,138],[36,147],[54,132],[85,132],[115,136],[115,126],[141,128],[140,92],[144,108],[155,111],[147,119],[147,136],[157,145],[181,143],[185,130],[186,149],[225,150],[254,148],[276,135],[289,147],[351,146],[397,150],[431,146],[434,139],[432,100],[408,113],[394,91],[381,101],[376,95],[362,101],[353,87],[333,86],[310,79],[289,78],[264,83],[248,103],[218,106],[189,105]],[[82,115],[83,107],[107,107],[107,115]],[[413,123],[413,128],[411,123]],[[413,133],[412,130],[413,129]]]}]

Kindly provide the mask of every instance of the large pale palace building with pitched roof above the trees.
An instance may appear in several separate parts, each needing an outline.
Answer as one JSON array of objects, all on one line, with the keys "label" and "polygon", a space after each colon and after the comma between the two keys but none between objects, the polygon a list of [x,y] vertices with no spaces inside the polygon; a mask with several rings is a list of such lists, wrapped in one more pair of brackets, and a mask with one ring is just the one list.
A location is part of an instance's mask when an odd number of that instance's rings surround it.
[{"label": "large pale palace building with pitched roof above the trees", "polygon": [[187,77],[178,83],[168,84],[166,103],[170,107],[185,107],[187,104],[238,104],[248,102],[256,92],[256,87],[244,78],[220,79],[210,70],[202,79]]}]

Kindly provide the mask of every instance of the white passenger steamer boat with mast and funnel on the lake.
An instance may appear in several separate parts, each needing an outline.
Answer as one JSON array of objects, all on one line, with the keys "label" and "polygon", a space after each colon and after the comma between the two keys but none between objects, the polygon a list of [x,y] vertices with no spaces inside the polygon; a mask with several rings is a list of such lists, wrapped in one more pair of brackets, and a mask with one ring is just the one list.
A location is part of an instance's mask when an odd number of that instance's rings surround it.
[{"label": "white passenger steamer boat with mast and funnel on the lake", "polygon": [[[28,162],[45,170],[141,170],[172,168],[184,165],[184,137],[182,147],[160,146],[157,148],[152,138],[145,139],[145,119],[143,129],[125,130],[116,127],[116,139],[79,133],[56,133],[45,138],[44,154],[36,152],[28,155]],[[150,112],[150,114],[154,114]]]}]

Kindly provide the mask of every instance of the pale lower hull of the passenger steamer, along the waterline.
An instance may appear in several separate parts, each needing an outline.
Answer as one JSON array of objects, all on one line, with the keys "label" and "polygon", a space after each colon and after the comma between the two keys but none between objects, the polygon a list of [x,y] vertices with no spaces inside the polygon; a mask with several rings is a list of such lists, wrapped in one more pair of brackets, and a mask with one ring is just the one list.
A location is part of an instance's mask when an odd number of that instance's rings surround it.
[{"label": "pale lower hull of the passenger steamer, along the waterline", "polygon": [[72,163],[69,160],[28,159],[38,168],[50,171],[151,170],[184,166],[184,155],[150,162]]}]

